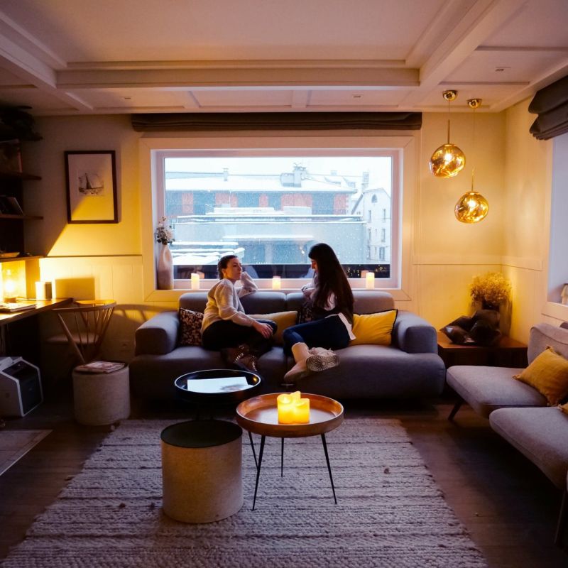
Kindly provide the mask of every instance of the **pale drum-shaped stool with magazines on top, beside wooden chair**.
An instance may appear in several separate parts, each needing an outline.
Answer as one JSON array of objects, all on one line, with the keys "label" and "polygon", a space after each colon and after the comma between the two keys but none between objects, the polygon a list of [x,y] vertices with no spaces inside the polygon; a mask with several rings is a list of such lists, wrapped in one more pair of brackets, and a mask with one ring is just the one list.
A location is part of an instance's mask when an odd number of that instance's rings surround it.
[{"label": "pale drum-shaped stool with magazines on top, beside wooden chair", "polygon": [[104,426],[130,415],[129,368],[112,373],[82,373],[73,369],[75,419],[87,426]]}]

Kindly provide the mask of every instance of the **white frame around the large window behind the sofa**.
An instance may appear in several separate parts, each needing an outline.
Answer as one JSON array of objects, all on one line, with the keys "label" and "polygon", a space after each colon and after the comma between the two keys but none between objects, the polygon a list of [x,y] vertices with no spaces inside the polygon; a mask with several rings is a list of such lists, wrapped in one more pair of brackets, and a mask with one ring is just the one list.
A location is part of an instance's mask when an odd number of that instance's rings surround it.
[{"label": "white frame around the large window behind the sofa", "polygon": [[[163,216],[163,199],[156,191],[163,180],[163,160],[157,156],[193,153],[195,155],[391,155],[393,158],[393,194],[391,232],[391,278],[377,279],[377,290],[388,290],[395,299],[408,300],[405,290],[410,274],[410,238],[412,201],[416,185],[415,136],[192,136],[143,137],[139,141],[141,170],[141,214],[143,249],[143,288],[147,300],[177,298],[190,291],[187,280],[176,280],[175,290],[155,289],[155,244],[153,234],[158,219]],[[395,190],[398,187],[398,191]],[[148,207],[151,204],[151,207]],[[397,238],[398,236],[398,238]],[[215,280],[202,280],[202,290],[207,290]],[[286,279],[283,290],[297,290],[307,280]],[[270,279],[259,279],[259,288],[271,288]],[[351,278],[352,288],[365,288],[364,278]]]}]

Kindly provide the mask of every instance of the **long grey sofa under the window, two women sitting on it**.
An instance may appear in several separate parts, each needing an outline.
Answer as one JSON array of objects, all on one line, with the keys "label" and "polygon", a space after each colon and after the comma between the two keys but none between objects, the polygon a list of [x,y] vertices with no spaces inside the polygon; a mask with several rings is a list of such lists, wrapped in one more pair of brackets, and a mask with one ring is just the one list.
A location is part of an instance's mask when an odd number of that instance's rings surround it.
[{"label": "long grey sofa under the window, two women sitting on it", "polygon": [[[354,311],[368,314],[394,307],[393,297],[378,290],[354,290]],[[180,296],[180,307],[203,311],[207,293]],[[242,298],[249,314],[299,310],[302,293],[258,291]],[[179,346],[177,311],[160,312],[136,330],[136,356],[130,364],[133,395],[154,400],[175,397],[178,376],[207,368],[224,368],[218,351],[201,346]],[[338,351],[336,368],[308,376],[298,384],[307,393],[332,398],[433,397],[444,388],[445,368],[437,354],[436,330],[425,320],[399,310],[393,342],[383,345],[352,345]],[[274,346],[258,361],[262,392],[283,391],[282,378],[294,361]]]}]

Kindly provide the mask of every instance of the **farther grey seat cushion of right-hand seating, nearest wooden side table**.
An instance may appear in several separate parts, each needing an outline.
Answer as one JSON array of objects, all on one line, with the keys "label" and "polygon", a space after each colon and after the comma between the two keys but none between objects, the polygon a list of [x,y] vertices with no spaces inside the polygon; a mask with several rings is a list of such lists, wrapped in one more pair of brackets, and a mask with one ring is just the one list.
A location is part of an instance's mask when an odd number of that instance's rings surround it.
[{"label": "farther grey seat cushion of right-hand seating, nearest wooden side table", "polygon": [[520,368],[456,365],[446,381],[476,413],[488,417],[493,410],[510,406],[546,406],[546,397],[531,386],[515,381]]}]

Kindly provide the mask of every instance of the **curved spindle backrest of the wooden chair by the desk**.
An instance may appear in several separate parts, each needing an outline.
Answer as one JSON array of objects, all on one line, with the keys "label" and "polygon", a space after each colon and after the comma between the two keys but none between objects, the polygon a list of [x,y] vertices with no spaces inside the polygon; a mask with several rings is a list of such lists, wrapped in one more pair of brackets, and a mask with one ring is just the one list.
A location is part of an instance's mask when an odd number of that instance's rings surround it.
[{"label": "curved spindle backrest of the wooden chair by the desk", "polygon": [[81,364],[93,361],[99,355],[115,306],[114,300],[83,300],[79,305],[53,310]]}]

